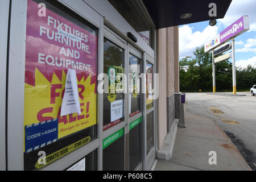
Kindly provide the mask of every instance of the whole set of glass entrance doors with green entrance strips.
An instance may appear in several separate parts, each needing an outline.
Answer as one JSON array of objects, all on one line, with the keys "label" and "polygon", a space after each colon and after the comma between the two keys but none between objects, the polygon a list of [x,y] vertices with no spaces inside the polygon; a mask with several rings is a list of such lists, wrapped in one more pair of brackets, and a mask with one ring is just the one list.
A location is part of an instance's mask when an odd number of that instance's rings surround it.
[{"label": "whole set of glass entrance doors with green entrance strips", "polygon": [[154,59],[144,55],[105,27],[103,69],[109,93],[103,96],[103,170],[148,170],[154,162]]}]

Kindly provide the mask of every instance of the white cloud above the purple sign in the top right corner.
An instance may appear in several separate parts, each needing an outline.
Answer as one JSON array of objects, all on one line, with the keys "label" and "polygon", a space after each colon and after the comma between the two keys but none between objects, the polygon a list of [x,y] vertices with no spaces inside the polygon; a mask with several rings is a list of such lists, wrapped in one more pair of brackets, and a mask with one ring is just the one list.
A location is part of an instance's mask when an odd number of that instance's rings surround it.
[{"label": "white cloud above the purple sign in the top right corner", "polygon": [[218,19],[218,26],[226,28],[243,15],[249,15],[250,31],[256,31],[256,1],[233,0],[223,19]]}]

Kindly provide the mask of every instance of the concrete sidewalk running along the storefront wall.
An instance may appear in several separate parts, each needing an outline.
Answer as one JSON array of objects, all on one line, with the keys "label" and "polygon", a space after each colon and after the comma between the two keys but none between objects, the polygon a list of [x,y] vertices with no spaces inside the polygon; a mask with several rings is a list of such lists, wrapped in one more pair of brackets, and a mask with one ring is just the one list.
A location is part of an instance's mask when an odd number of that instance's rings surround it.
[{"label": "concrete sidewalk running along the storefront wall", "polygon": [[[185,123],[187,128],[177,128],[171,160],[158,159],[155,171],[251,170],[212,119],[187,112]],[[210,151],[216,151],[216,165],[208,162]]]}]

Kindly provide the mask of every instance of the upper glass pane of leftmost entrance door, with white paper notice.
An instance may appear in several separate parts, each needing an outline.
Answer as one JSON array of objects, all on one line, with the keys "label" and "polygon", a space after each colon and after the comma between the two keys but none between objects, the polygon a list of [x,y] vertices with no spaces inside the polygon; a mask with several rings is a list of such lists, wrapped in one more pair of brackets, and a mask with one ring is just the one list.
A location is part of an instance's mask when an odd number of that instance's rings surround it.
[{"label": "upper glass pane of leftmost entrance door, with white paper notice", "polygon": [[109,93],[104,93],[103,130],[123,121],[123,59],[124,50],[104,38],[104,73],[109,77]]}]

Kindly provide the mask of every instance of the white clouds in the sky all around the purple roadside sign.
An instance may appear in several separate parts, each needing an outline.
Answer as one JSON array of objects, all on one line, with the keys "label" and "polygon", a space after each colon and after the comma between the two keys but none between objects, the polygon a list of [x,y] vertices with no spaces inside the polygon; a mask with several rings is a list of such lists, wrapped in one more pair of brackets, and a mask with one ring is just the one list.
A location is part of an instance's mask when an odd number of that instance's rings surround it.
[{"label": "white clouds in the sky all around the purple roadside sign", "polygon": [[[217,20],[217,26],[208,26],[203,31],[193,32],[193,27],[184,25],[179,28],[179,49],[180,58],[193,56],[193,51],[212,38],[220,31],[235,22],[242,15],[249,15],[250,31],[256,31],[256,1],[255,0],[233,0],[223,19]],[[246,42],[240,40],[235,42],[237,46],[243,46],[237,49],[237,52],[256,52],[256,39],[248,39]]]}]

